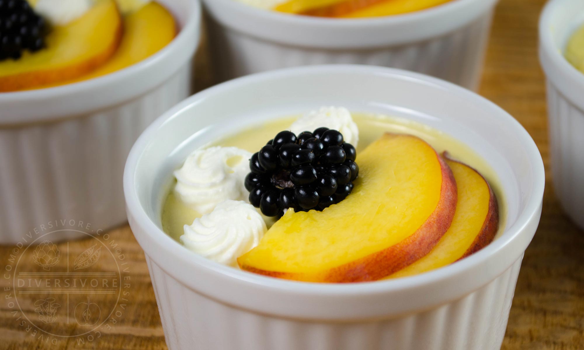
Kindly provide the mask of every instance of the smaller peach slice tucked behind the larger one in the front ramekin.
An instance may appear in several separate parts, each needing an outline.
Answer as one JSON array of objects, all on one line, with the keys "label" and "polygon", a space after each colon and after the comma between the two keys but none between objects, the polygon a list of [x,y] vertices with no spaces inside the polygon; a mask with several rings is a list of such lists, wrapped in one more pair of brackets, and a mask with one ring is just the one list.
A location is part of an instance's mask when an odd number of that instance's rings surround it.
[{"label": "smaller peach slice tucked behind the larger one in the front ramekin", "polygon": [[458,187],[458,204],[452,225],[430,253],[388,276],[422,274],[451,264],[491,243],[499,229],[499,208],[491,186],[477,170],[446,159]]}]

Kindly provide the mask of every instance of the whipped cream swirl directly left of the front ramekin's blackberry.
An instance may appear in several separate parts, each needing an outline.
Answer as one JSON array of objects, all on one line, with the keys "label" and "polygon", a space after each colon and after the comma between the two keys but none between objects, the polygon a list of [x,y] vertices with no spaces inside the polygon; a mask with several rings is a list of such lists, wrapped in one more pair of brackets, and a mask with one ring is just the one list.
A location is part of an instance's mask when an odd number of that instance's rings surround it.
[{"label": "whipped cream swirl directly left of the front ramekin's blackberry", "polygon": [[248,201],[244,180],[251,156],[237,147],[197,149],[174,173],[175,194],[201,215],[210,213],[227,199]]}]

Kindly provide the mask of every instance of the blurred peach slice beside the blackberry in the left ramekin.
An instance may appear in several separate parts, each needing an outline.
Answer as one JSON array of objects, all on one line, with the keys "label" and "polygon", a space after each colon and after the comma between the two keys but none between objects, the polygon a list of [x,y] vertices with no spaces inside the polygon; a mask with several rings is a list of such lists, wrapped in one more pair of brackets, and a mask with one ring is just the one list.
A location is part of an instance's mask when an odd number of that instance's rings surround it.
[{"label": "blurred peach slice beside the blackberry in the left ramekin", "polygon": [[106,0],[66,26],[55,26],[47,48],[0,62],[0,92],[33,89],[87,74],[116,51],[122,34],[116,2]]}]

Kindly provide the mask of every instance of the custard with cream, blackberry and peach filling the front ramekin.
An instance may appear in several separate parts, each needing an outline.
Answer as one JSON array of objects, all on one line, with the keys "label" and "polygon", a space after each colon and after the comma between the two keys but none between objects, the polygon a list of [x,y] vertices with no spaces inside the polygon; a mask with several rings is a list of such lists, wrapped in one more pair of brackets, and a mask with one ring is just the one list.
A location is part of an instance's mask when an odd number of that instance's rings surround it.
[{"label": "custard with cream, blackberry and peach filling the front ramekin", "polygon": [[505,221],[495,174],[413,121],[322,107],[194,150],[162,225],[203,257],[308,282],[420,274],[485,247]]}]

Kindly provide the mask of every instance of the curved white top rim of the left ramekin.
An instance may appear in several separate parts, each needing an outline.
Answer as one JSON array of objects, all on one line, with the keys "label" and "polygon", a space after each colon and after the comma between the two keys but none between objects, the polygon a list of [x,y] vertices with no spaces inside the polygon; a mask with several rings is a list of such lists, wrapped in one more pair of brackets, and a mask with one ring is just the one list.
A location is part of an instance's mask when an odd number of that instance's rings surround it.
[{"label": "curved white top rim of the left ramekin", "polygon": [[[64,95],[69,95],[71,92],[79,92],[79,90],[94,90],[98,88],[103,88],[103,86],[114,85],[116,82],[124,81],[131,76],[140,74],[140,72],[150,68],[152,65],[157,64],[159,61],[165,60],[166,57],[171,55],[172,51],[175,51],[175,47],[179,47],[183,41],[187,40],[187,36],[190,36],[189,32],[196,31],[197,23],[200,22],[201,17],[201,4],[199,0],[190,1],[193,6],[190,11],[187,22],[184,26],[180,27],[178,35],[176,35],[172,41],[161,50],[150,55],[149,57],[130,65],[126,68],[119,69],[112,73],[98,76],[96,78],[91,78],[86,81],[68,83],[65,85],[52,86],[50,88],[41,88],[33,90],[23,90],[15,92],[2,92],[0,93],[0,103],[4,101],[27,101],[32,99],[51,99],[56,97],[61,97]],[[199,38],[196,38],[196,44],[199,42]],[[179,67],[177,67],[178,69]]]}]

